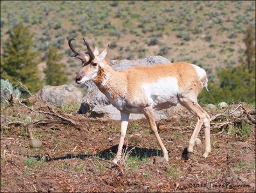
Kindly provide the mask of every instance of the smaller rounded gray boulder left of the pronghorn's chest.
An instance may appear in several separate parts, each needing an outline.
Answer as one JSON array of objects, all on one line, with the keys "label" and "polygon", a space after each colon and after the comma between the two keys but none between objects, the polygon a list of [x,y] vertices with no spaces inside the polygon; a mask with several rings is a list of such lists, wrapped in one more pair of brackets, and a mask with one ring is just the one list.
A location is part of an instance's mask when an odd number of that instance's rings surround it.
[{"label": "smaller rounded gray boulder left of the pronghorn's chest", "polygon": [[38,98],[42,102],[60,107],[62,105],[81,104],[83,94],[76,86],[65,84],[61,86],[44,86],[38,91]]}]

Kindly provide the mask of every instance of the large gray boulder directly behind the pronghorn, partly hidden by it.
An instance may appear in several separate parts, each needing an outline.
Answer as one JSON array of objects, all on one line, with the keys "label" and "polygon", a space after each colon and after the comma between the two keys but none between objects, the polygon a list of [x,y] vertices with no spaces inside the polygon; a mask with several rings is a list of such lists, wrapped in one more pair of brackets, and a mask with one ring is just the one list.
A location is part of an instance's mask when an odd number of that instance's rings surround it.
[{"label": "large gray boulder directly behind the pronghorn, partly hidden by it", "polygon": [[[120,61],[110,61],[110,65],[116,71],[124,70],[132,66],[152,66],[167,63],[170,63],[170,60],[163,58],[162,56],[150,56],[148,58],[136,60],[122,59]],[[92,81],[86,82],[86,86],[88,89],[78,112],[80,114],[90,112],[90,117],[92,118],[109,118],[111,120],[120,120],[120,111],[109,103],[108,98],[106,98],[106,96],[99,91],[97,86]],[[161,120],[168,118],[174,109],[175,107],[171,107],[170,109],[154,111],[155,119]],[[137,120],[145,118],[145,116],[143,114],[131,114],[130,118]]]}]

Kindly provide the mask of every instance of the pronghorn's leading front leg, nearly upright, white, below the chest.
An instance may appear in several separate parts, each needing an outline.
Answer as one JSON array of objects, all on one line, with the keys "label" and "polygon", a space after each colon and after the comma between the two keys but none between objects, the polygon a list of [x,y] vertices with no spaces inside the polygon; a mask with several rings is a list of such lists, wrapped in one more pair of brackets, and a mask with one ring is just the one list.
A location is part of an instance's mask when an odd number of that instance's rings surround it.
[{"label": "pronghorn's leading front leg, nearly upright, white, below the chest", "polygon": [[122,155],[122,148],[124,145],[124,137],[126,134],[127,126],[128,126],[128,120],[129,120],[130,114],[127,112],[121,112],[121,137],[120,137],[120,142],[118,145],[118,151],[116,153],[116,158],[113,160],[115,164],[117,164],[120,161],[121,155]]}]

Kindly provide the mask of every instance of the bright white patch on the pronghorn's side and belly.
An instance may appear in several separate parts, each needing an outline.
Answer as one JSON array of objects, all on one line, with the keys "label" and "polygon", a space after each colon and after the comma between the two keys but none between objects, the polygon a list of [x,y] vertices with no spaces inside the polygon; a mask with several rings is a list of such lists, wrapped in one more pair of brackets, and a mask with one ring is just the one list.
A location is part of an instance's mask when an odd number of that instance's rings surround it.
[{"label": "bright white patch on the pronghorn's side and belly", "polygon": [[179,86],[175,77],[164,77],[156,82],[143,84],[143,89],[153,109],[168,109],[179,103]]}]

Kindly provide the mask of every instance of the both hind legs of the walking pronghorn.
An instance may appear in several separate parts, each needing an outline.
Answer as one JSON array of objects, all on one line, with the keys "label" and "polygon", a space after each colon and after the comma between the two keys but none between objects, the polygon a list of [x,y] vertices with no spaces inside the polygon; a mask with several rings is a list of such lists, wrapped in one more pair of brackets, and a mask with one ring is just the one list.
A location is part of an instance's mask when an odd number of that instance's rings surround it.
[{"label": "both hind legs of the walking pronghorn", "polygon": [[204,157],[207,157],[209,153],[211,152],[211,143],[210,143],[210,117],[209,115],[200,107],[198,102],[196,100],[192,100],[190,97],[180,97],[180,104],[182,104],[184,107],[186,107],[191,113],[195,114],[197,116],[197,123],[195,130],[193,131],[193,134],[191,135],[191,138],[189,140],[189,146],[188,149],[184,150],[182,153],[182,157],[188,158],[189,153],[193,152],[193,148],[195,145],[196,137],[198,136],[198,133],[200,132],[200,129],[204,125],[204,132],[205,132],[205,152]]}]

